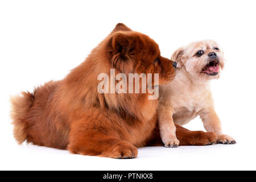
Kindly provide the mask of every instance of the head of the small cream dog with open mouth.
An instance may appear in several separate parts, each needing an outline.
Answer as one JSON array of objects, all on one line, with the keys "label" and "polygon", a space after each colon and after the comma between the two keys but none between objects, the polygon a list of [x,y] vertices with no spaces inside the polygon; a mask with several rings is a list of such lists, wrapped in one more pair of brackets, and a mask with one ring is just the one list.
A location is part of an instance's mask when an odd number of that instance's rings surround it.
[{"label": "head of the small cream dog with open mouth", "polygon": [[177,69],[184,68],[191,76],[203,80],[220,77],[224,68],[224,53],[213,40],[193,42],[177,49],[171,57],[177,62]]}]

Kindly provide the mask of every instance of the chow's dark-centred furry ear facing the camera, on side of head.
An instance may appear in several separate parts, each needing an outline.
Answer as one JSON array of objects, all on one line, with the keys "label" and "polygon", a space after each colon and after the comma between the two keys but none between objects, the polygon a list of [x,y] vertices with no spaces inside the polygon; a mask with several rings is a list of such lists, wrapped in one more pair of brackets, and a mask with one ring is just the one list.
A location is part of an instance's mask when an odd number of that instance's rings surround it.
[{"label": "chow's dark-centred furry ear facing the camera, on side of head", "polygon": [[116,32],[108,43],[110,63],[122,73],[130,73],[133,69],[135,55],[135,38],[125,32]]}]

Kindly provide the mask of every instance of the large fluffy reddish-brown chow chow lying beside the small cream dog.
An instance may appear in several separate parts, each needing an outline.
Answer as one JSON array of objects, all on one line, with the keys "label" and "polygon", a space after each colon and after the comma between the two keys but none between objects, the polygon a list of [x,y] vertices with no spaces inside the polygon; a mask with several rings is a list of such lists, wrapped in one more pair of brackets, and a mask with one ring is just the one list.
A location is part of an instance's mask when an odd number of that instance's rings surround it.
[{"label": "large fluffy reddish-brown chow chow lying beside the small cream dog", "polygon": [[[97,76],[110,75],[110,69],[125,75],[159,73],[159,84],[167,84],[175,77],[173,64],[160,56],[154,40],[118,23],[63,80],[12,98],[14,137],[20,144],[26,140],[73,154],[135,158],[136,147],[163,145],[157,125],[158,100],[149,100],[150,93],[99,93]],[[216,140],[213,133],[176,127],[180,145]]]}]

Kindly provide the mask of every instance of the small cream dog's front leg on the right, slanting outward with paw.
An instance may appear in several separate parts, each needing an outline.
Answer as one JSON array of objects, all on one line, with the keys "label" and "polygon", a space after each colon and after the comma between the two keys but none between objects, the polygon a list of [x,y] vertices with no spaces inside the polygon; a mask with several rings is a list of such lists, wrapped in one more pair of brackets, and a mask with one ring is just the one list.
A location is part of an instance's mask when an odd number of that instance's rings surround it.
[{"label": "small cream dog's front leg on the right, slanting outward with paw", "polygon": [[214,109],[204,110],[200,114],[200,118],[204,123],[204,128],[208,132],[214,132],[217,134],[217,143],[234,144],[236,141],[229,135],[222,134],[221,121]]}]

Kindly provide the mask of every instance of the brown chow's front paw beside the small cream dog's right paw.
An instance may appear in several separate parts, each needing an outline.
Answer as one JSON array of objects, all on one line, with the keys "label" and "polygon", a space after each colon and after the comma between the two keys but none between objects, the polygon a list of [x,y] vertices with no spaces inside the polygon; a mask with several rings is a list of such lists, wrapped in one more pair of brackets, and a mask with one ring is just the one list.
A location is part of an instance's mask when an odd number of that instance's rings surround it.
[{"label": "brown chow's front paw beside the small cream dog's right paw", "polygon": [[213,132],[197,131],[194,135],[194,145],[208,146],[217,142],[217,135]]}]

